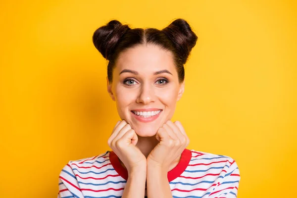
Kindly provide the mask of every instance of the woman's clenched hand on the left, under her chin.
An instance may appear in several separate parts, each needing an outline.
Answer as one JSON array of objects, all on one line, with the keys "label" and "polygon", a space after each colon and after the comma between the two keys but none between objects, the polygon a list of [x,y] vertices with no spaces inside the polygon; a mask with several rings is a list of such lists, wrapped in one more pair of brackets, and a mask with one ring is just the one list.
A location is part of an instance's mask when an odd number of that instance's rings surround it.
[{"label": "woman's clenched hand on the left, under her chin", "polygon": [[135,145],[138,141],[137,134],[125,121],[118,121],[107,143],[126,166],[128,173],[135,168],[146,168],[147,159]]}]

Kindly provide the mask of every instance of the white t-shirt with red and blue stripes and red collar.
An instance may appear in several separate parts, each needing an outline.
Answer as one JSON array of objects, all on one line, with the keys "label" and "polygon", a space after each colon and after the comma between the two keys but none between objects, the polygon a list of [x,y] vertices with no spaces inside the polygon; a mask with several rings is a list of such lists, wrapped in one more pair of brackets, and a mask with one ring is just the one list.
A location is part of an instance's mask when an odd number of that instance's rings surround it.
[{"label": "white t-shirt with red and blue stripes and red collar", "polygon": [[[236,198],[240,180],[231,157],[193,149],[182,152],[167,176],[173,198]],[[121,198],[127,179],[113,151],[69,161],[59,175],[58,198]]]}]

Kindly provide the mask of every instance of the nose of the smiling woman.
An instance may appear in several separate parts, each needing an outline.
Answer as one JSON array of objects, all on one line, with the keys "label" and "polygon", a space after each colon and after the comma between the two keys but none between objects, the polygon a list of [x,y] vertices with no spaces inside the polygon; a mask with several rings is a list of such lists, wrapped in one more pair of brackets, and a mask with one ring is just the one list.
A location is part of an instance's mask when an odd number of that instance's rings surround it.
[{"label": "nose of the smiling woman", "polygon": [[149,84],[143,84],[140,93],[136,99],[137,103],[149,104],[155,101],[155,93],[153,87]]}]

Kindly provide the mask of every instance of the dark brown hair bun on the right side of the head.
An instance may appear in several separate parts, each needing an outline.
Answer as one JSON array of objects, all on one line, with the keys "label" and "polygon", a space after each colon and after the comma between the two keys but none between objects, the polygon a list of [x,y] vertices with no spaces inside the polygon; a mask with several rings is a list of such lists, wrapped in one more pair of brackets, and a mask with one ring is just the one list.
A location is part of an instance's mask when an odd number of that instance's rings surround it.
[{"label": "dark brown hair bun on the right side of the head", "polygon": [[176,46],[183,64],[186,63],[192,48],[198,40],[188,22],[184,19],[176,19],[162,30]]}]

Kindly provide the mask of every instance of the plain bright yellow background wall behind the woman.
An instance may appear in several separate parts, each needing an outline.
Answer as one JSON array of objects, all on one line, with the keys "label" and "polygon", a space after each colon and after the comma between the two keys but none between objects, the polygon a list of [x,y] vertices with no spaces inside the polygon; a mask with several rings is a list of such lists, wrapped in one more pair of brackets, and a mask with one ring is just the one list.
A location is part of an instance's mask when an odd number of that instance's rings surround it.
[{"label": "plain bright yellow background wall behind the woman", "polygon": [[188,148],[233,157],[238,198],[296,197],[296,1],[1,0],[1,198],[56,197],[69,160],[109,149],[118,115],[93,32],[176,18],[198,35],[173,119]]}]

